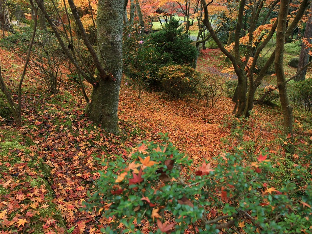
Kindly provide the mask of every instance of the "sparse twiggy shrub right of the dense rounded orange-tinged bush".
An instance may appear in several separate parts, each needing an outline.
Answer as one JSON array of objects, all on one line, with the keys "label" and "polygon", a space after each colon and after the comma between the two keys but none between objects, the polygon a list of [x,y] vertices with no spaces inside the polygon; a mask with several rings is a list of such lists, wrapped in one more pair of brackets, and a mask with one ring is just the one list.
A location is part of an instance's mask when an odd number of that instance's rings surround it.
[{"label": "sparse twiggy shrub right of the dense rounded orange-tinged bush", "polygon": [[220,76],[204,74],[197,85],[197,104],[200,100],[206,100],[206,107],[213,106],[223,93],[222,79]]}]

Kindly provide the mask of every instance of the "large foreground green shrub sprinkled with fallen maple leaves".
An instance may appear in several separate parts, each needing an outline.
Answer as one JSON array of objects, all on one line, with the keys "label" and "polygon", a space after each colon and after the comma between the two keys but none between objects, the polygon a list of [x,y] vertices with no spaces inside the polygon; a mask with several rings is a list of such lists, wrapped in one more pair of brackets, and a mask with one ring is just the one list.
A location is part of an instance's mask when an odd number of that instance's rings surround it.
[{"label": "large foreground green shrub sprinkled with fallen maple leaves", "polygon": [[233,147],[231,154],[209,163],[204,159],[190,170],[192,161],[167,142],[140,144],[130,162],[121,156],[104,162],[98,191],[85,204],[110,220],[102,232],[141,233],[141,224],[149,223],[149,233],[189,228],[198,233],[223,228],[229,233],[297,233],[294,220],[309,230],[312,175],[301,163]]}]

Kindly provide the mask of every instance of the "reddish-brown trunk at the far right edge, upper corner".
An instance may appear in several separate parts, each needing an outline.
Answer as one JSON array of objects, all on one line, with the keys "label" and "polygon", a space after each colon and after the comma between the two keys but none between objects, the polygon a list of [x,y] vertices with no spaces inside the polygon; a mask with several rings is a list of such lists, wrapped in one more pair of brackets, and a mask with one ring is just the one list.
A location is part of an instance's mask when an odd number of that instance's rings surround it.
[{"label": "reddish-brown trunk at the far right edge, upper corner", "polygon": [[[311,16],[311,10],[312,10],[312,4],[310,6],[310,15],[308,18],[308,22],[305,26],[305,33],[304,33],[304,39],[308,41],[308,43],[311,44],[312,40],[312,16]],[[297,72],[300,71],[308,62],[310,59],[310,55],[308,54],[310,51],[310,48],[306,45],[306,43],[302,42],[301,51],[300,51],[300,57],[299,57],[299,64],[297,68]],[[295,77],[295,81],[305,80],[305,74],[307,72],[307,68],[303,69],[298,76]]]}]

